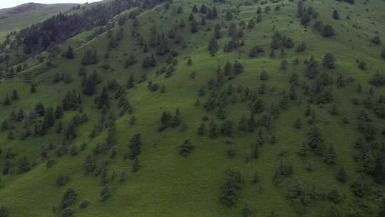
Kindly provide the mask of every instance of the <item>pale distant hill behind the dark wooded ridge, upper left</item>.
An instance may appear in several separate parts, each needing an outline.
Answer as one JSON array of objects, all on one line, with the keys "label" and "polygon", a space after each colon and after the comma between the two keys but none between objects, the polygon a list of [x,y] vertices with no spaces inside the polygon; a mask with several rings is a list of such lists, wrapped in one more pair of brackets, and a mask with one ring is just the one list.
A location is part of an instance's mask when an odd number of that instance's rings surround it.
[{"label": "pale distant hill behind the dark wooded ridge, upper left", "polygon": [[9,9],[0,9],[0,41],[9,31],[24,29],[55,14],[68,11],[76,5],[27,3]]}]

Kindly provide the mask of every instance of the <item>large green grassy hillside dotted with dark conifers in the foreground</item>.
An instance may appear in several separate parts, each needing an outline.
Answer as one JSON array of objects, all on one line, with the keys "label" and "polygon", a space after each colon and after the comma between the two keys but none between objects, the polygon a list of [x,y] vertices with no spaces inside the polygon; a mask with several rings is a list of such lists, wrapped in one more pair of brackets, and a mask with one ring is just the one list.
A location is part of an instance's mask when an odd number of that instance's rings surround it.
[{"label": "large green grassy hillside dotted with dark conifers in the foreground", "polygon": [[[384,1],[304,1],[303,13],[314,9],[307,25],[298,3],[178,0],[133,8],[86,44],[71,42],[86,41],[81,34],[59,45],[63,53],[73,45],[73,59],[51,56],[3,79],[0,213],[384,215]],[[217,18],[202,23],[202,4],[215,6]],[[132,11],[140,11],[135,19]],[[335,35],[322,36],[317,21]],[[222,36],[211,55],[215,33]],[[230,49],[232,38],[240,45]],[[251,57],[254,46],[264,52]],[[88,50],[96,63],[84,61]],[[155,64],[145,66],[151,55]],[[93,73],[96,85],[88,86]],[[14,90],[19,97],[11,99]],[[71,109],[41,133],[48,107],[68,106],[72,90]]]}]

